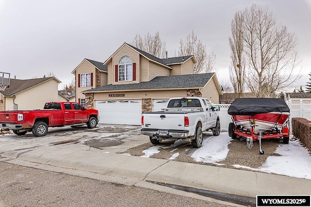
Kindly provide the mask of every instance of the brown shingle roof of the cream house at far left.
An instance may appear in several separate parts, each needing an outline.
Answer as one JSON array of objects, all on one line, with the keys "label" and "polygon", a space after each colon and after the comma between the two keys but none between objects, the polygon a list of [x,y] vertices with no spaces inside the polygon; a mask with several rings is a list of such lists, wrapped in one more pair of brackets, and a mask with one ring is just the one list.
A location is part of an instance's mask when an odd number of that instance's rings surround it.
[{"label": "brown shingle roof of the cream house at far left", "polygon": [[27,79],[27,80],[19,80],[19,79],[10,79],[10,87],[6,88],[4,91],[0,91],[3,96],[12,96],[18,92],[21,92],[27,88],[30,88],[34,85],[37,85],[46,80],[52,79],[54,77],[48,78],[39,78],[39,79]]}]

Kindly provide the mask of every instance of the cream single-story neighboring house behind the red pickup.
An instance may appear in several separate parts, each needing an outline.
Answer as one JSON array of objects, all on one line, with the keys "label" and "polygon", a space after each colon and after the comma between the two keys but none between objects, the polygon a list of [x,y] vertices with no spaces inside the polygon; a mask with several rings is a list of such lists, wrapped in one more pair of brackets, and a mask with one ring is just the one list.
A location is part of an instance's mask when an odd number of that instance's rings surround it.
[{"label": "cream single-story neighboring house behind the red pickup", "polygon": [[58,83],[54,77],[18,80],[0,91],[0,111],[43,109],[45,102],[58,100]]}]

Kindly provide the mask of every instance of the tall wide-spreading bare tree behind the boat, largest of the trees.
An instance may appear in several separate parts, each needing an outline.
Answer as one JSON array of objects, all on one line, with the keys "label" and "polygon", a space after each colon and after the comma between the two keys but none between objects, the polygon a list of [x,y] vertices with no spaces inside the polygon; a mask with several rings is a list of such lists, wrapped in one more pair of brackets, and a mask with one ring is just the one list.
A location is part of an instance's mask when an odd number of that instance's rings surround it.
[{"label": "tall wide-spreading bare tree behind the boat, largest of the trees", "polygon": [[253,4],[243,15],[243,52],[249,68],[247,86],[257,97],[274,97],[276,90],[298,80],[297,38],[276,24],[268,8]]}]

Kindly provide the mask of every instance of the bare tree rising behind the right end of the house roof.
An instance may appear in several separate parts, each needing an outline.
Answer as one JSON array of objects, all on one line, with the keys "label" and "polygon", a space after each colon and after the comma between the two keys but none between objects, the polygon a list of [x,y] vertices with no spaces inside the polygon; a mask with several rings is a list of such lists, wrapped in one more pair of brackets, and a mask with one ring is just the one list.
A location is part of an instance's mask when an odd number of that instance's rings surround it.
[{"label": "bare tree rising behind the right end of the house roof", "polygon": [[211,53],[207,56],[206,46],[192,31],[186,40],[180,40],[178,56],[193,55],[196,61],[194,64],[193,73],[209,73],[214,70],[216,55]]}]

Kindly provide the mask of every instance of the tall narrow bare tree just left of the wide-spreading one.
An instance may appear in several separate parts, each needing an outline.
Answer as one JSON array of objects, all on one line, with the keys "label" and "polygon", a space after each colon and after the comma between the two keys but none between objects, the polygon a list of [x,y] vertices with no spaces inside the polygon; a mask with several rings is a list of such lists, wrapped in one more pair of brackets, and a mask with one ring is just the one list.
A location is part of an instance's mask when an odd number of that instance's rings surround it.
[{"label": "tall narrow bare tree just left of the wide-spreading one", "polygon": [[231,49],[231,66],[229,67],[230,81],[236,98],[241,98],[244,91],[245,60],[243,58],[243,15],[238,11],[231,21],[229,46]]}]

